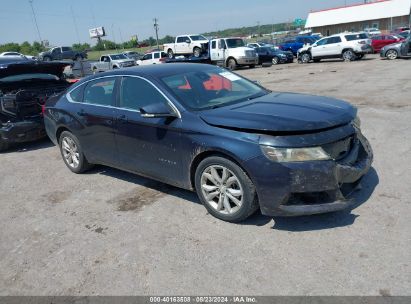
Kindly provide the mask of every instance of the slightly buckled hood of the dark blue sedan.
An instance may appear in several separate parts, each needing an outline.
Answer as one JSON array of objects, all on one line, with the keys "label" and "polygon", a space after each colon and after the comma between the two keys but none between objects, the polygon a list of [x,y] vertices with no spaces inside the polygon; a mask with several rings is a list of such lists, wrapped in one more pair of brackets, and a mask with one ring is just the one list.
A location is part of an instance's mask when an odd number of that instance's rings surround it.
[{"label": "slightly buckled hood of the dark blue sedan", "polygon": [[356,115],[357,109],[347,102],[293,93],[271,93],[200,113],[216,127],[262,133],[326,130],[348,124]]}]

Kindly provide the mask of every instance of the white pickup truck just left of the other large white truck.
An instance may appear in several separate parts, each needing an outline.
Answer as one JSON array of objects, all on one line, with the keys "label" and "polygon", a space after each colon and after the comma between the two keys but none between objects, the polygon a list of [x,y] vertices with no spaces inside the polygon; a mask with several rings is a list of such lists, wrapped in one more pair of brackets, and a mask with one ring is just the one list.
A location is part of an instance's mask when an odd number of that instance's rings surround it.
[{"label": "white pickup truck just left of the other large white truck", "polygon": [[208,49],[208,40],[202,35],[181,35],[174,43],[164,44],[164,52],[169,58],[175,55],[194,55],[200,57]]}]

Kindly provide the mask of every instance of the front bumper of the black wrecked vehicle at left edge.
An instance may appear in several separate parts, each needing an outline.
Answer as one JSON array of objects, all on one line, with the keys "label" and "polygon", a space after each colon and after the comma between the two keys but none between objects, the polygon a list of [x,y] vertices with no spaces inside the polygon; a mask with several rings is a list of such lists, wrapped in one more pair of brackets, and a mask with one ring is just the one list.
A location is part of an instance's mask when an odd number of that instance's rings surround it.
[{"label": "front bumper of the black wrecked vehicle at left edge", "polygon": [[30,142],[46,136],[41,118],[6,122],[0,125],[0,139],[8,144]]}]

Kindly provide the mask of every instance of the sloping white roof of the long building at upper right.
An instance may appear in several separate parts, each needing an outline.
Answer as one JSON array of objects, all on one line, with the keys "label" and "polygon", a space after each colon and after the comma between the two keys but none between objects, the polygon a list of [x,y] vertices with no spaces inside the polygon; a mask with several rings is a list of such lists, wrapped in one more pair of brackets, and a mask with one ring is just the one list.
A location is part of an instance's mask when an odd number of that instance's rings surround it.
[{"label": "sloping white roof of the long building at upper right", "polygon": [[409,15],[411,0],[378,0],[310,12],[306,28]]}]

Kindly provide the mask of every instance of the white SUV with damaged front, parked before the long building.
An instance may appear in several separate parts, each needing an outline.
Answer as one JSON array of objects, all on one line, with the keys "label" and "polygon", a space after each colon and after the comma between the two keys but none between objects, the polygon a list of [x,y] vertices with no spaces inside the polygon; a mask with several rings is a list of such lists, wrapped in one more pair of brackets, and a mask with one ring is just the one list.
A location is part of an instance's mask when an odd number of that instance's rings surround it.
[{"label": "white SUV with damaged front, parked before the long building", "polygon": [[341,58],[344,61],[361,59],[371,53],[371,39],[366,33],[342,33],[325,37],[313,45],[298,50],[298,61],[307,63],[311,60],[319,62],[321,59]]}]

